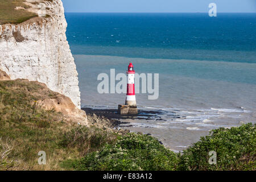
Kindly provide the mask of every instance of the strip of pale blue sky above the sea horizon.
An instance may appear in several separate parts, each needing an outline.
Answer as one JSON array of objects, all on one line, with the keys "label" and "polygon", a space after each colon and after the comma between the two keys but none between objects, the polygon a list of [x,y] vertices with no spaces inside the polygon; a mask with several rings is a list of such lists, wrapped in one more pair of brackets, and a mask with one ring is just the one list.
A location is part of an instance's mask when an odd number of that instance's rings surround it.
[{"label": "strip of pale blue sky above the sea horizon", "polygon": [[62,0],[65,12],[84,13],[256,13],[256,0]]}]

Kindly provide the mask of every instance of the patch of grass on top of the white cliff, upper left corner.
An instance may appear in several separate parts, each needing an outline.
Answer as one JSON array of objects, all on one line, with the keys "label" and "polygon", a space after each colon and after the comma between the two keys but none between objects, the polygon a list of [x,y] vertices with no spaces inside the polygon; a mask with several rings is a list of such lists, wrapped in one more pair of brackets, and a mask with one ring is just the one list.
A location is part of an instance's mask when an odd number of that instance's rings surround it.
[{"label": "patch of grass on top of the white cliff, upper left corner", "polygon": [[23,2],[24,0],[0,0],[0,24],[18,24],[38,16],[26,10],[15,10],[17,6],[24,7],[25,9],[29,7]]}]

